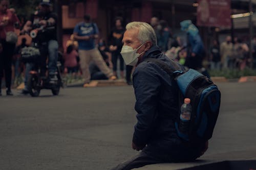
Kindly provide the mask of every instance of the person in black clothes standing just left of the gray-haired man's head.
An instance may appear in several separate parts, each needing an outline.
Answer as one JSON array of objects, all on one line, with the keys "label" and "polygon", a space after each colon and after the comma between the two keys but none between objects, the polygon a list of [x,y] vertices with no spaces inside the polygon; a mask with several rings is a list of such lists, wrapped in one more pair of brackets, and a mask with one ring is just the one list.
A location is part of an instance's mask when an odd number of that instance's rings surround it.
[{"label": "person in black clothes standing just left of the gray-haired man's head", "polygon": [[115,18],[115,27],[112,29],[110,34],[110,51],[112,52],[112,63],[113,63],[113,74],[117,76],[117,60],[119,60],[120,66],[120,77],[121,79],[124,78],[123,70],[124,70],[124,63],[123,58],[120,54],[122,49],[122,39],[124,28],[122,26],[123,19],[122,17]]}]

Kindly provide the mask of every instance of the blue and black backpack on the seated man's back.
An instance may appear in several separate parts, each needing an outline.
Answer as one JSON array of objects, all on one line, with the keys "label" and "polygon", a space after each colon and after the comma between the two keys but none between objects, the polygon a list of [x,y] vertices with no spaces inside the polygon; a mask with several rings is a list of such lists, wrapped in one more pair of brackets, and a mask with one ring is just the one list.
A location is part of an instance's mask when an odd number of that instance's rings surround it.
[{"label": "blue and black backpack on the seated man's back", "polygon": [[[170,68],[165,62],[147,58],[165,70],[179,87],[179,114],[175,121],[175,128],[180,138],[190,143],[205,142],[211,138],[219,115],[221,93],[217,85],[194,69],[182,70],[175,61]],[[189,98],[192,106],[189,131],[183,134],[179,131],[180,108],[184,99]]]}]

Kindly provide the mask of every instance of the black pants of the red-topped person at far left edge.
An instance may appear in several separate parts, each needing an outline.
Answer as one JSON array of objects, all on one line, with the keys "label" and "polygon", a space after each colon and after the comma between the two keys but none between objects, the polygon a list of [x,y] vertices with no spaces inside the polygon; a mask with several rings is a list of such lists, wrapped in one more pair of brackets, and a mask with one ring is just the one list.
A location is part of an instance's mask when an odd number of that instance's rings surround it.
[{"label": "black pants of the red-topped person at far left edge", "polygon": [[3,51],[0,54],[0,88],[2,87],[2,78],[5,72],[5,86],[11,89],[12,81],[12,56],[15,49],[15,44],[8,43],[5,40],[0,40]]}]

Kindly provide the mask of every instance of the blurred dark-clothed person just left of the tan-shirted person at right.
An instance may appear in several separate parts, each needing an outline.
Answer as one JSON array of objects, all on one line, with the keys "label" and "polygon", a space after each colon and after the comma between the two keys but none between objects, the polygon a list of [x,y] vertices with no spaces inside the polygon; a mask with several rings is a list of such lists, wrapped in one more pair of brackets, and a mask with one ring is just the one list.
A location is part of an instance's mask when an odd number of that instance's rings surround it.
[{"label": "blurred dark-clothed person just left of the tan-shirted person at right", "polygon": [[220,55],[220,44],[218,40],[213,41],[213,45],[210,50],[210,68],[221,69],[221,55]]}]

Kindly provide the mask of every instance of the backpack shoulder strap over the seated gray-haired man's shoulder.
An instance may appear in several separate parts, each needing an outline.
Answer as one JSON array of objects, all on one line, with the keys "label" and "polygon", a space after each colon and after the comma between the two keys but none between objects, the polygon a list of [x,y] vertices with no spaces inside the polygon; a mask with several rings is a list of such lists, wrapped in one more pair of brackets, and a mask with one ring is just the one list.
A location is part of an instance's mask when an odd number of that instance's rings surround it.
[{"label": "backpack shoulder strap over the seated gray-haired man's shoulder", "polygon": [[151,61],[153,63],[156,63],[159,67],[161,67],[163,70],[167,72],[168,75],[170,75],[172,78],[177,77],[178,75],[182,74],[183,71],[181,67],[173,60],[170,60],[172,62],[172,65],[174,68],[167,65],[165,62],[156,59],[156,58],[147,58],[144,61]]}]

